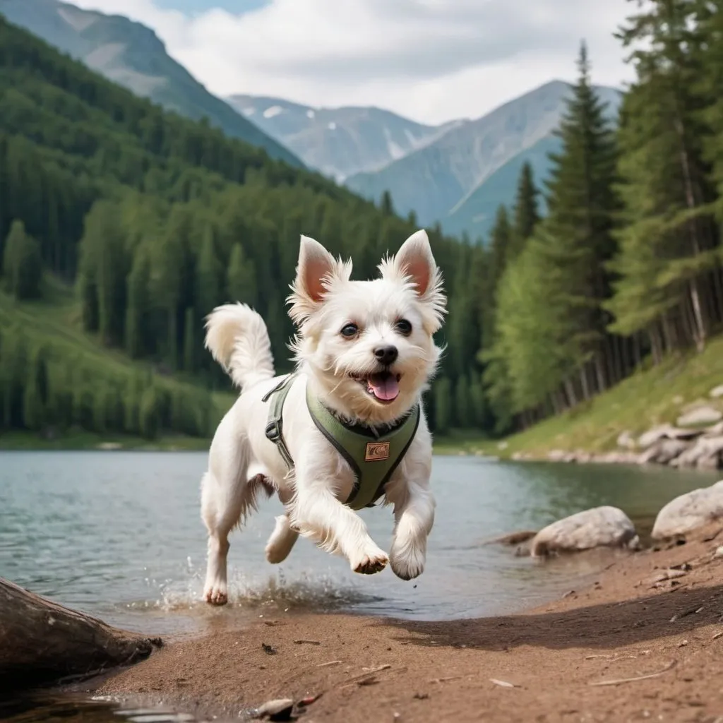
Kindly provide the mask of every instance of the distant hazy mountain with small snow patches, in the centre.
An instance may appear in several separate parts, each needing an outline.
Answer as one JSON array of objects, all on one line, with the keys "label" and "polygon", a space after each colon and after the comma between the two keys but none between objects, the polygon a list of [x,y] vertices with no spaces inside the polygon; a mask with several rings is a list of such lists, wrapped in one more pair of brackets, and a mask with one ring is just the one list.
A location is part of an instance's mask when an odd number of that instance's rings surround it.
[{"label": "distant hazy mountain with small snow patches, in the centre", "polygon": [[227,100],[307,166],[338,181],[383,168],[464,122],[425,126],[380,108],[315,108],[260,95]]}]

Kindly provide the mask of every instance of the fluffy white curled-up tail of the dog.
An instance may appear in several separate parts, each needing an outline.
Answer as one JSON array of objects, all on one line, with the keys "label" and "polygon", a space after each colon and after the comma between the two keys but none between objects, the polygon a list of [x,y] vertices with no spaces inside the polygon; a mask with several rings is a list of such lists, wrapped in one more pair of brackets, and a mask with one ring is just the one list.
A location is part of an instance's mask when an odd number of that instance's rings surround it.
[{"label": "fluffy white curled-up tail of the dog", "polygon": [[224,304],[206,317],[206,348],[239,388],[274,376],[264,320],[246,304]]}]

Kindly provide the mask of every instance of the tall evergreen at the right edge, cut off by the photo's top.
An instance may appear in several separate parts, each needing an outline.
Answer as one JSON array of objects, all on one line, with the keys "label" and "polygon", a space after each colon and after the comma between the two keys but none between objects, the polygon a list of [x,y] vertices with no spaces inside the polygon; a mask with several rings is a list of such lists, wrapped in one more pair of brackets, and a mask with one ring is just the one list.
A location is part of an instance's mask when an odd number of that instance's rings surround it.
[{"label": "tall evergreen at the right edge, cut off by the photo's top", "polygon": [[[716,27],[719,3],[654,0],[620,33],[636,48],[637,80],[621,118],[623,226],[611,265],[620,278],[607,308],[612,329],[646,333],[656,358],[688,341],[703,348],[711,323],[722,320],[721,249],[703,157],[707,144],[716,168],[707,125],[719,107]],[[709,33],[702,43],[701,32]]]}]

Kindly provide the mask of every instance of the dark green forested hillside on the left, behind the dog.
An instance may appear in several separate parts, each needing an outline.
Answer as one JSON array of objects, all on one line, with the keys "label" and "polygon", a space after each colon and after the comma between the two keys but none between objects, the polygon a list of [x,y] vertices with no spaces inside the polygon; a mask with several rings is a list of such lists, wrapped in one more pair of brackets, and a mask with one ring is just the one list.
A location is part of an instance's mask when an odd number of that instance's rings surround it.
[{"label": "dark green forested hillside on the left, behind the dog", "polygon": [[[288,369],[284,299],[300,234],[352,255],[361,278],[415,228],[388,205],[162,111],[0,19],[0,258],[19,309],[3,296],[4,427],[208,434],[218,414],[200,389],[230,390],[202,346],[216,304],[259,309]],[[466,268],[466,249],[431,237],[448,277]],[[31,334],[20,310],[43,296],[41,270],[74,285],[90,338],[154,372],[86,364],[54,335]],[[54,299],[34,308],[43,302]],[[481,400],[479,375],[476,387]]]}]

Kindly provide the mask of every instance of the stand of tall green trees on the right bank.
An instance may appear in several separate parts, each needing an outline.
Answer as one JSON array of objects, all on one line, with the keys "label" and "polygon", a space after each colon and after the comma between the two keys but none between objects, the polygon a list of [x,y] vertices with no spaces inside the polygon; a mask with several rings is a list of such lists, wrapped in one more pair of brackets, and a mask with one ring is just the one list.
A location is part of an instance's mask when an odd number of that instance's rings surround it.
[{"label": "stand of tall green trees on the right bank", "polygon": [[[655,0],[620,31],[636,70],[612,132],[583,47],[549,213],[521,243],[500,213],[489,398],[529,424],[723,322],[723,1]],[[529,212],[528,212],[529,218]]]}]

